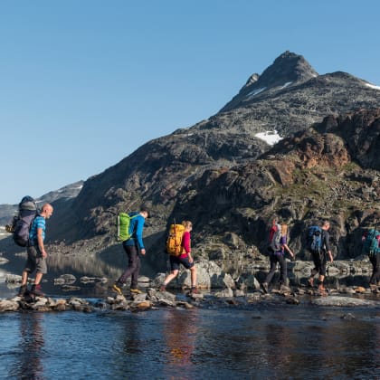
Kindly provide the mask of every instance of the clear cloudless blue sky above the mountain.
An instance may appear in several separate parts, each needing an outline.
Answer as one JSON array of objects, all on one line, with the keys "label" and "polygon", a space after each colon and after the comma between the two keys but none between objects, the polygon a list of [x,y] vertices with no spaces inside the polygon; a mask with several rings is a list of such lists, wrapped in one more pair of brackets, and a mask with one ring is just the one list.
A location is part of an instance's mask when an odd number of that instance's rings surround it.
[{"label": "clear cloudless blue sky above the mountain", "polygon": [[380,85],[378,0],[1,0],[0,204],[214,115],[280,53]]}]

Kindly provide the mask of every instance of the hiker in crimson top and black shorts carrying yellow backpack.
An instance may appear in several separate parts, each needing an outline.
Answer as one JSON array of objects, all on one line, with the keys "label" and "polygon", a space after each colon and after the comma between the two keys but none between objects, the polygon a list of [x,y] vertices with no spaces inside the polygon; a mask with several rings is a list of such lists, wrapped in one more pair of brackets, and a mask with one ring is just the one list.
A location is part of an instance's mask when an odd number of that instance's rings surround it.
[{"label": "hiker in crimson top and black shorts carrying yellow backpack", "polygon": [[185,227],[185,232],[182,237],[182,248],[183,253],[181,253],[179,256],[173,256],[170,255],[170,273],[167,275],[166,279],[164,280],[163,284],[160,286],[160,291],[166,290],[166,285],[171,281],[176,279],[176,276],[179,272],[179,265],[182,264],[185,269],[190,270],[190,277],[191,277],[191,290],[190,294],[196,294],[196,267],[194,259],[191,255],[191,236],[190,233],[193,230],[193,223],[190,221],[184,221],[182,222],[182,225]]}]

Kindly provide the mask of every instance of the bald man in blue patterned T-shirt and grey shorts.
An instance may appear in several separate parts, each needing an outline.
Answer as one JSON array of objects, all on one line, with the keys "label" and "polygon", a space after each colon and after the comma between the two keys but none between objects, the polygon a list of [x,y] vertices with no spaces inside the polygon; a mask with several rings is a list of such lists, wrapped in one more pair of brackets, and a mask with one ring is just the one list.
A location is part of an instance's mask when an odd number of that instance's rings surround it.
[{"label": "bald man in blue patterned T-shirt and grey shorts", "polygon": [[30,293],[37,297],[44,296],[43,290],[41,289],[41,281],[43,280],[43,275],[47,273],[47,253],[43,241],[45,239],[46,219],[49,219],[52,216],[52,211],[51,204],[43,204],[41,213],[33,220],[29,232],[29,242],[26,247],[28,258],[25,263],[21,287],[18,293],[20,297],[24,297],[29,293],[27,285],[28,277],[33,271],[35,271],[35,280]]}]

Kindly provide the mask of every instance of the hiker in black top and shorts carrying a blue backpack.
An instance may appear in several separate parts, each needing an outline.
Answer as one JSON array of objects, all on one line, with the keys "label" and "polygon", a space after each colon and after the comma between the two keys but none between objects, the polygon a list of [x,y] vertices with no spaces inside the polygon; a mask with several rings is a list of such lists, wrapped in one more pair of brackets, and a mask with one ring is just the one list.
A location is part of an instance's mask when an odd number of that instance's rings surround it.
[{"label": "hiker in black top and shorts carrying a blue backpack", "polygon": [[322,227],[320,228],[321,231],[321,242],[320,242],[320,248],[318,249],[309,249],[311,252],[313,261],[314,261],[314,269],[311,271],[308,283],[309,286],[312,288],[314,286],[314,276],[318,273],[319,277],[319,283],[318,283],[318,290],[325,291],[326,288],[324,286],[324,280],[326,276],[326,262],[327,262],[327,253],[330,262],[333,261],[329,239],[330,234],[328,233],[328,230],[330,228],[330,223],[328,221],[325,221],[322,223]]}]

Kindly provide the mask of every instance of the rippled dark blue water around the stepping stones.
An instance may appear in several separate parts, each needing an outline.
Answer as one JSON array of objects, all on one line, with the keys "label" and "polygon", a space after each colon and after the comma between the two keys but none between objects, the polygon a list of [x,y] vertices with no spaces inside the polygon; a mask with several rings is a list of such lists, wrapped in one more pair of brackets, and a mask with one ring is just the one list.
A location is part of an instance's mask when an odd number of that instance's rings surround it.
[{"label": "rippled dark blue water around the stepping stones", "polygon": [[[23,265],[13,257],[3,267],[17,273]],[[58,273],[112,278],[120,271],[93,260],[78,265],[51,262],[43,289],[62,296],[52,285]],[[104,291],[66,297],[96,301]],[[15,293],[0,283],[0,298]],[[379,308],[322,308],[308,299],[297,306],[207,305],[0,314],[0,379],[380,378]]]}]

